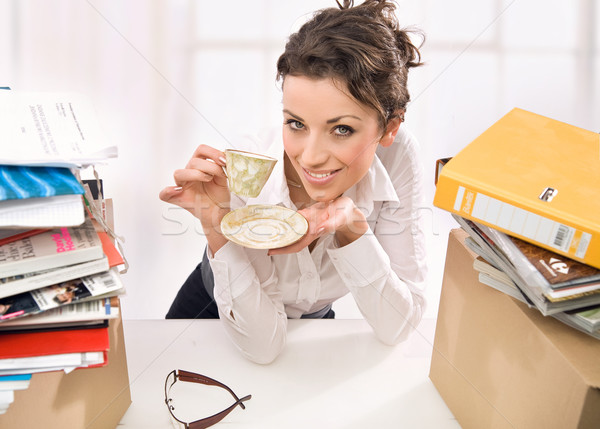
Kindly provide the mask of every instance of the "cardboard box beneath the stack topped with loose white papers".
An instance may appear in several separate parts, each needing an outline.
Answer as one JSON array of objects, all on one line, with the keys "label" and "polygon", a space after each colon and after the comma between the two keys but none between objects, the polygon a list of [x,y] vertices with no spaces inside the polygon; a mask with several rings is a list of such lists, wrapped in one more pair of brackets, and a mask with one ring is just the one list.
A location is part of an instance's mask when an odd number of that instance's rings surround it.
[{"label": "cardboard box beneath the stack topped with loose white papers", "polygon": [[0,428],[115,428],[131,404],[121,319],[109,325],[108,365],[33,374],[0,415]]}]

